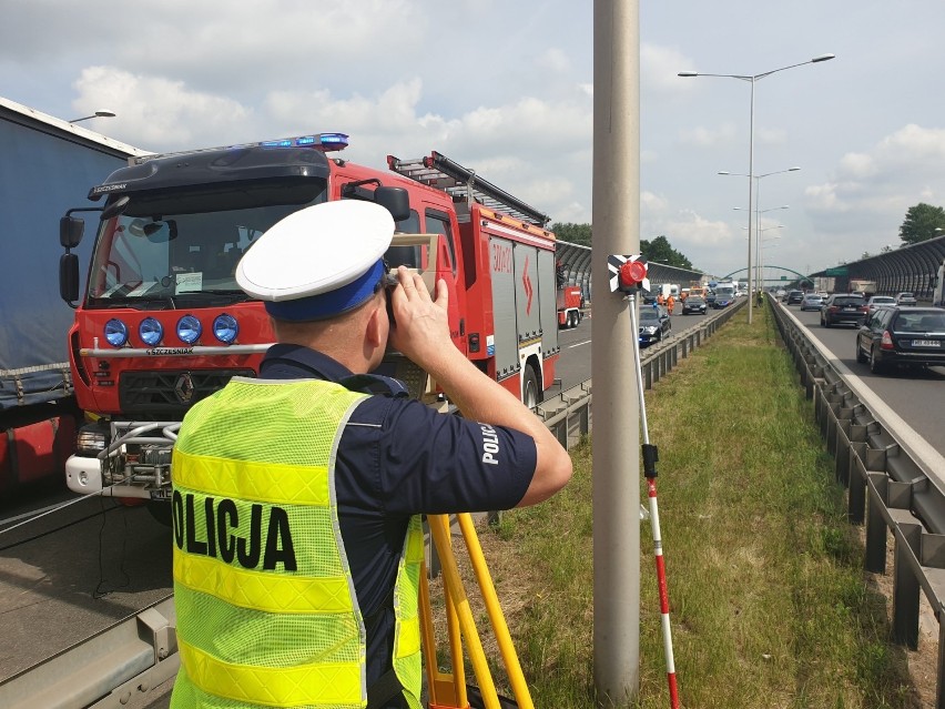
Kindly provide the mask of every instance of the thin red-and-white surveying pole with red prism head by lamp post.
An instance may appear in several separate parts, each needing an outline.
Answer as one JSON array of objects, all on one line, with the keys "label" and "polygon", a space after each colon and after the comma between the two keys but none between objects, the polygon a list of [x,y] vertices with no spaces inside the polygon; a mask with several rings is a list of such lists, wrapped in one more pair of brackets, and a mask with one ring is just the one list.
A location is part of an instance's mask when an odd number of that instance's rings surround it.
[{"label": "thin red-and-white surveying pole with red prism head by lamp post", "polygon": [[[626,264],[622,264],[618,270],[618,278],[622,286],[620,290],[628,293],[627,301],[628,307],[630,308],[630,326],[633,328],[633,362],[637,367],[637,372],[640,372],[640,331],[639,325],[637,324],[637,303],[634,291],[639,284],[643,283],[646,287],[649,285],[649,282],[646,280],[646,261],[642,259],[638,259],[637,261],[638,263],[633,264],[633,262],[628,260]],[[641,271],[639,269],[639,261],[642,261],[644,265],[642,275],[640,275]],[[631,272],[631,267],[634,267],[636,271]],[[659,460],[659,453],[657,450],[657,446],[650,444],[650,432],[647,424],[647,399],[643,397],[642,374],[637,377],[637,386],[640,399],[640,423],[643,428],[643,475],[647,478],[647,494],[650,499],[650,527],[653,530],[653,556],[656,557],[657,563],[657,584],[659,585],[660,592],[660,624],[662,626],[663,635],[663,654],[665,655],[667,661],[667,683],[669,685],[670,707],[672,709],[679,709],[679,689],[675,681],[675,662],[673,661],[672,656],[672,632],[670,630],[669,621],[667,567],[663,561],[663,540],[660,534],[660,512],[657,505],[657,460]]]}]

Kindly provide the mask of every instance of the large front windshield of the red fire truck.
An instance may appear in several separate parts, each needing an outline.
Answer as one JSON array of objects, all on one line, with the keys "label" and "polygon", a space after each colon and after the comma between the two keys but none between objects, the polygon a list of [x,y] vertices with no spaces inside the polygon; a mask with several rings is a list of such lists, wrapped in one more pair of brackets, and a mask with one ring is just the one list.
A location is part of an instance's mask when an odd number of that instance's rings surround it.
[{"label": "large front windshield of the red fire truck", "polygon": [[182,300],[200,301],[202,294],[247,300],[236,284],[236,264],[270,226],[324,201],[324,182],[317,181],[317,190],[312,182],[304,190],[243,184],[202,194],[131,195],[124,212],[99,227],[87,307],[160,301],[173,307]]}]

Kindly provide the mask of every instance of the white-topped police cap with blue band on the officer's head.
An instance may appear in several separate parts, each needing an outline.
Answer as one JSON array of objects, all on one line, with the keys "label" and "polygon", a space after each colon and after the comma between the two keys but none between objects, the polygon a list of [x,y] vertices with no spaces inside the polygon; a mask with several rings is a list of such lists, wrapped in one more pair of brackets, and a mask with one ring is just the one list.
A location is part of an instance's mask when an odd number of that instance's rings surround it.
[{"label": "white-topped police cap with blue band on the officer's head", "polygon": [[236,266],[236,282],[278,320],[332,317],[377,291],[393,236],[390,212],[373,202],[308,206],[256,240]]}]

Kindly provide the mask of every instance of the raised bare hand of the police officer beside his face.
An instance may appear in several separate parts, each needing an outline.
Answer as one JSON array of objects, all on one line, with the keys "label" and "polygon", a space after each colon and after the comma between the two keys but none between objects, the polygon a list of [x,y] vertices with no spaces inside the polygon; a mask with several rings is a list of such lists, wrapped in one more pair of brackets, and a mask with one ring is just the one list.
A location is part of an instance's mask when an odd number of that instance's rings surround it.
[{"label": "raised bare hand of the police officer beside his face", "polygon": [[446,282],[437,281],[434,300],[423,278],[405,266],[397,269],[397,281],[388,293],[394,311],[389,343],[420,367],[428,368],[447,348],[455,350],[449,336]]}]

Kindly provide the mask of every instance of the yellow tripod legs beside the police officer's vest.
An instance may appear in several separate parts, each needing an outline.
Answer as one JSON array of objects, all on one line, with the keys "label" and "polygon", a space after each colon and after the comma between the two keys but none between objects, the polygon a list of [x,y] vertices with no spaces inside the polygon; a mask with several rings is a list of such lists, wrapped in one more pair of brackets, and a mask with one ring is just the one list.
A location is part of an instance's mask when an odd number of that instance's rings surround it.
[{"label": "yellow tripod legs beside the police officer's vest", "polygon": [[[502,656],[506,673],[515,696],[514,706],[522,709],[534,709],[528,685],[521,672],[515,647],[511,642],[508,625],[506,625],[502,609],[499,606],[496,588],[486,559],[482,556],[482,547],[476,535],[472,518],[468,513],[456,516],[469,560],[476,574],[476,580],[486,605],[489,622]],[[449,651],[451,658],[451,672],[440,672],[437,668],[436,637],[433,626],[433,612],[430,608],[429,584],[427,581],[426,568],[420,574],[420,627],[423,632],[424,666],[427,675],[427,691],[429,693],[428,709],[469,709],[469,698],[466,688],[466,671],[464,666],[463,642],[466,641],[469,654],[469,662],[476,676],[476,682],[481,695],[484,709],[505,709],[509,707],[508,700],[504,700],[496,691],[492,675],[489,670],[482,642],[472,619],[469,599],[463,579],[459,576],[459,567],[453,553],[453,540],[447,515],[430,515],[427,517],[430,537],[439,555],[443,565],[443,586],[446,606],[446,625],[449,636]],[[505,702],[505,703],[504,703]]]}]

